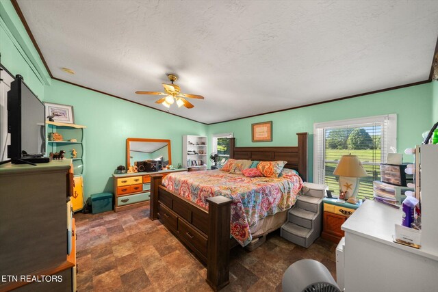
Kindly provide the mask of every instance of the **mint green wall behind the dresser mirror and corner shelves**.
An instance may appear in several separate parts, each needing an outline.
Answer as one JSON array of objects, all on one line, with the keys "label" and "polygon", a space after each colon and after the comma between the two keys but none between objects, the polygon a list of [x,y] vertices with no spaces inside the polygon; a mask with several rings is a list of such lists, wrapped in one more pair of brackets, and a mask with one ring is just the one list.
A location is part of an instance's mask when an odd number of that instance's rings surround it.
[{"label": "mint green wall behind the dresser mirror and corner shelves", "polygon": [[182,164],[183,135],[206,135],[207,126],[129,103],[119,98],[53,80],[44,91],[44,101],[73,105],[75,123],[85,130],[86,196],[112,191],[112,173],[126,165],[126,139],[168,139],[172,164]]}]

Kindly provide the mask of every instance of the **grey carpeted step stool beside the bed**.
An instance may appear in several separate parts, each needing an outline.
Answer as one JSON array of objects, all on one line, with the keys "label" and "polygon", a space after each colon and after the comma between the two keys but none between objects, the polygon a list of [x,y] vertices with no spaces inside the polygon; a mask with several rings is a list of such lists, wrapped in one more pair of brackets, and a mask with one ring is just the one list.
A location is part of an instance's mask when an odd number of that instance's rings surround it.
[{"label": "grey carpeted step stool beside the bed", "polygon": [[309,246],[321,235],[322,198],[327,185],[305,183],[305,194],[299,196],[287,214],[287,222],[281,226],[280,235],[297,245]]}]

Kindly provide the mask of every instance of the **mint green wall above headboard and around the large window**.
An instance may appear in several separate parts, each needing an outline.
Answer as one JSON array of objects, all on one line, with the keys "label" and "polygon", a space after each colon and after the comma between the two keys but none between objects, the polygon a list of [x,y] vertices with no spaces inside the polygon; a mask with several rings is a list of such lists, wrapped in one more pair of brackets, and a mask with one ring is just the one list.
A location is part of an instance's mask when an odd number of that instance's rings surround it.
[{"label": "mint green wall above headboard and around the large window", "polygon": [[[436,82],[435,88],[437,88]],[[211,145],[211,135],[233,132],[237,146],[295,146],[298,141],[296,133],[307,132],[309,133],[309,181],[312,181],[313,123],[397,114],[397,148],[398,152],[403,152],[405,148],[422,142],[422,133],[430,129],[431,95],[432,83],[426,83],[333,103],[211,124],[208,127],[209,145]],[[272,142],[251,142],[251,124],[271,120]],[[405,161],[411,159],[412,157],[408,155],[404,157]]]}]

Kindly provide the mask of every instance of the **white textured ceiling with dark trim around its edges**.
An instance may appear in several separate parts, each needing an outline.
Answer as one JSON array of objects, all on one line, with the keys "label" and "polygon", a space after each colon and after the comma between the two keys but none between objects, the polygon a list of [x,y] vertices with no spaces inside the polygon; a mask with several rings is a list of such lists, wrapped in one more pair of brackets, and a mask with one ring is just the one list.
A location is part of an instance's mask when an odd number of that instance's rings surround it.
[{"label": "white textured ceiling with dark trim around its edges", "polygon": [[175,72],[205,123],[427,80],[438,35],[438,1],[18,4],[54,77],[166,110],[134,92]]}]

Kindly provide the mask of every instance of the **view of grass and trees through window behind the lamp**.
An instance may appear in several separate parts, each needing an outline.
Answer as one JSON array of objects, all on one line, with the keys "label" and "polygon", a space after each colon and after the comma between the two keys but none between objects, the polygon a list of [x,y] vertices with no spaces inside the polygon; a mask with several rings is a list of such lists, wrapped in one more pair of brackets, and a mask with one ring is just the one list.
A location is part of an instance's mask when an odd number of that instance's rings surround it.
[{"label": "view of grass and trees through window behind the lamp", "polygon": [[339,177],[333,171],[342,155],[357,155],[368,173],[361,178],[357,198],[371,198],[372,182],[380,180],[381,126],[326,129],[325,137],[324,181],[329,189],[339,194]]}]

